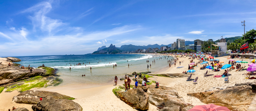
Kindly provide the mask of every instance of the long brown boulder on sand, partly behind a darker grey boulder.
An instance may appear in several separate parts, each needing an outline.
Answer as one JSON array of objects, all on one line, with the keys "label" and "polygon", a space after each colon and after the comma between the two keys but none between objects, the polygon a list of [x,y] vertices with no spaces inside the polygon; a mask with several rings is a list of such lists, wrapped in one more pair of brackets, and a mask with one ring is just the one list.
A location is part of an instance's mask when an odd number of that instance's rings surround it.
[{"label": "long brown boulder on sand, partly behind a darker grey boulder", "polygon": [[57,92],[49,92],[49,91],[37,91],[37,90],[27,90],[13,97],[13,101],[15,103],[23,103],[23,104],[37,104],[40,101],[40,98],[43,100],[51,96],[51,98],[55,99],[70,99],[74,98],[63,95]]}]

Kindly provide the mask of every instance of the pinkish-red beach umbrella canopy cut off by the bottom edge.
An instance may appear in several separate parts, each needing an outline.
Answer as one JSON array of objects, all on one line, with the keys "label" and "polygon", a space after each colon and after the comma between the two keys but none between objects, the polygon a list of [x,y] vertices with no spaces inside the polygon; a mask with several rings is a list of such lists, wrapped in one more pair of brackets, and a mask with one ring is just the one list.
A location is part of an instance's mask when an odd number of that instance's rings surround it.
[{"label": "pinkish-red beach umbrella canopy cut off by the bottom edge", "polygon": [[227,107],[218,106],[215,104],[198,105],[188,111],[230,111]]}]

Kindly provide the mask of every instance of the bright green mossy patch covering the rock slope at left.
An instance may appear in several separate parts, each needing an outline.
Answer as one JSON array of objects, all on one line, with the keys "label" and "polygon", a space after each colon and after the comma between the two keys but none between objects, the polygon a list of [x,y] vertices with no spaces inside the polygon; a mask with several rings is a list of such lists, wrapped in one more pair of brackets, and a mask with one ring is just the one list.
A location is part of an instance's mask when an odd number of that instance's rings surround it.
[{"label": "bright green mossy patch covering the rock slope at left", "polygon": [[[54,79],[52,77],[52,79]],[[47,87],[47,86],[57,86],[62,82],[62,79],[55,78],[54,80],[47,79],[43,76],[35,76],[32,78],[20,80],[13,86],[8,87],[6,92],[12,92],[14,90],[17,90],[19,92],[23,92],[26,90],[30,90],[32,88],[42,88],[42,87]]]}]

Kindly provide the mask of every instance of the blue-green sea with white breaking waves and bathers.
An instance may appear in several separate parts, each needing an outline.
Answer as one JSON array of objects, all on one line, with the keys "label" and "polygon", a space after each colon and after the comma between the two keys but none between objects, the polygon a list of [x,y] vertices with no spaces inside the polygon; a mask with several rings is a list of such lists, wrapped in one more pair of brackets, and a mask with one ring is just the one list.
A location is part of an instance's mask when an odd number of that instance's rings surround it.
[{"label": "blue-green sea with white breaking waves and bathers", "polygon": [[[159,59],[161,58],[162,59]],[[93,54],[93,55],[54,55],[16,57],[22,61],[18,64],[37,68],[44,64],[57,69],[57,75],[63,79],[61,85],[104,84],[124,78],[133,72],[156,72],[168,67],[167,56],[144,54]],[[173,59],[169,57],[168,60]],[[127,61],[128,60],[128,61]],[[149,60],[149,62],[146,62]],[[152,63],[155,60],[155,63]],[[90,63],[89,63],[90,62]],[[81,65],[76,65],[81,63]],[[117,64],[113,67],[113,64]],[[128,64],[130,65],[128,67]],[[147,69],[147,65],[150,66]],[[71,69],[69,68],[71,67]],[[92,67],[92,70],[90,70]],[[82,77],[82,75],[85,75]]]}]

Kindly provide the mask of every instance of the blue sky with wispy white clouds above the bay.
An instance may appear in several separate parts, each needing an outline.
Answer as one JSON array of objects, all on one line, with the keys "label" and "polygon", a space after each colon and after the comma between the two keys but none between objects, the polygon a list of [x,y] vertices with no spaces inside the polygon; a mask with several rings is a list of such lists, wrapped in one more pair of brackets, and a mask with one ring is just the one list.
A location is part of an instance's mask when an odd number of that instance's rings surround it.
[{"label": "blue sky with wispy white clouds above the bay", "polygon": [[255,0],[0,0],[0,57],[92,53],[98,47],[168,45],[242,36],[256,26]]}]

